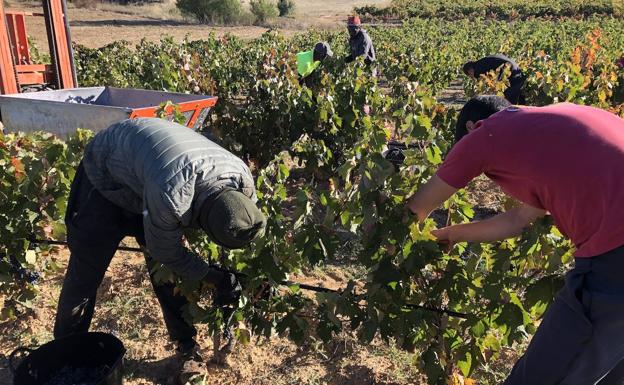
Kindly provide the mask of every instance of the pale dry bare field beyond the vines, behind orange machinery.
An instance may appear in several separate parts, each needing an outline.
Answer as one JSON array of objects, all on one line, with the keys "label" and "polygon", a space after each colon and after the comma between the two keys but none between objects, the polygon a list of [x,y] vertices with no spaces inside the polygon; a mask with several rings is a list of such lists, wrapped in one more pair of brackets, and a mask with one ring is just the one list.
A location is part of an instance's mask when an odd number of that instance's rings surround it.
[{"label": "pale dry bare field beyond the vines, behind orange machinery", "polygon": [[[8,9],[41,12],[41,3],[8,0]],[[365,4],[383,5],[387,0],[295,0],[293,17],[278,18],[272,24],[284,34],[292,35],[308,28],[334,29],[344,26],[347,15],[353,7]],[[165,0],[143,6],[119,6],[95,3],[91,8],[76,8],[69,4],[69,22],[72,40],[97,48],[116,40],[137,43],[141,39],[159,40],[163,35],[177,40],[189,36],[202,39],[211,32],[217,35],[227,33],[241,38],[254,38],[267,31],[259,26],[211,27],[184,19],[175,8],[175,0]],[[46,50],[46,32],[43,20],[27,17],[28,34],[37,45]]]}]

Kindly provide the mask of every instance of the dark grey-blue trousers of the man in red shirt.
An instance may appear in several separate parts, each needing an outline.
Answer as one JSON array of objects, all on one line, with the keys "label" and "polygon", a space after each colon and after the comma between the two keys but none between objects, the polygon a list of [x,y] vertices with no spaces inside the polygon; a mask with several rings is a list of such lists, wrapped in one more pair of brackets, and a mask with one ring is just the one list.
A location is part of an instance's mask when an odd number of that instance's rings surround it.
[{"label": "dark grey-blue trousers of the man in red shirt", "polygon": [[624,384],[624,246],[577,258],[505,385]]}]

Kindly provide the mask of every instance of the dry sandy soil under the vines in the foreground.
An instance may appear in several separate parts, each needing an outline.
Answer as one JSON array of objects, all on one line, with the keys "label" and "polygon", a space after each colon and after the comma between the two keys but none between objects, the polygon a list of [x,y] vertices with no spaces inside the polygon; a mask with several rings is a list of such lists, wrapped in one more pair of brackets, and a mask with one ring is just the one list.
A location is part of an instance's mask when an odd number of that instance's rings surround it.
[{"label": "dry sandy soil under the vines in the foreground", "polygon": [[[54,258],[64,270],[67,251],[60,249]],[[39,346],[52,339],[62,276],[59,272],[44,277],[34,310],[17,321],[0,324],[0,385],[11,384],[7,357],[13,349]],[[303,281],[339,287],[348,278],[344,270],[330,266],[310,272]],[[140,254],[119,252],[113,259],[98,291],[91,329],[114,333],[123,340],[128,350],[125,384],[174,384],[174,346],[167,338]],[[212,340],[205,327],[200,326],[199,333],[203,353],[209,358]],[[286,338],[253,338],[249,346],[235,348],[229,368],[210,367],[206,384],[420,384],[415,360],[415,355],[391,346],[357,344],[351,335],[336,338],[327,348],[315,344],[298,347]]]}]

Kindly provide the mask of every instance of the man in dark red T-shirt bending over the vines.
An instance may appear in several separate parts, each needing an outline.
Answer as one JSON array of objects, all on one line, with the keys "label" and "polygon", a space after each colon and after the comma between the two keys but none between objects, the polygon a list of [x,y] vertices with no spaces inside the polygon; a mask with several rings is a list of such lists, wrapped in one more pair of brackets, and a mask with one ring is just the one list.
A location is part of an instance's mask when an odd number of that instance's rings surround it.
[{"label": "man in dark red T-shirt bending over the vines", "polygon": [[463,108],[456,143],[409,198],[424,220],[485,174],[521,204],[432,233],[448,247],[520,235],[549,212],[576,246],[575,266],[505,385],[624,381],[624,120],[570,103],[515,107],[496,96]]}]

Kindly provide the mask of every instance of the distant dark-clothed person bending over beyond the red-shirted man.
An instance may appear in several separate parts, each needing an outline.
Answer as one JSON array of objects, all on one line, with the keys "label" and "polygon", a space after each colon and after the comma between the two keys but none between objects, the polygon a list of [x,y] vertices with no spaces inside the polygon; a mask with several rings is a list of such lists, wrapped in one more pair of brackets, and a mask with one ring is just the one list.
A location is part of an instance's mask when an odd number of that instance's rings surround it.
[{"label": "distant dark-clothed person bending over beyond the red-shirted man", "polygon": [[509,87],[504,91],[505,99],[511,104],[525,104],[524,95],[522,94],[522,86],[524,85],[524,74],[518,67],[518,64],[503,54],[486,56],[477,61],[469,61],[464,64],[462,70],[471,79],[479,79],[481,75],[485,75],[490,71],[500,69],[499,79],[502,80],[504,65],[509,65],[511,75],[509,76]]}]

